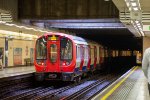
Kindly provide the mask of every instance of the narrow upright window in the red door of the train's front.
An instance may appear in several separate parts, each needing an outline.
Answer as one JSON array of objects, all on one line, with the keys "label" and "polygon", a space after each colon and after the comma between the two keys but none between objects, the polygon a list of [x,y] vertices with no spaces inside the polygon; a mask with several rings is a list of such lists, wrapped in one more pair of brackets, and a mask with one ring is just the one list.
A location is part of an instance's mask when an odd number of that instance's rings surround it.
[{"label": "narrow upright window in the red door of the train's front", "polygon": [[51,62],[56,62],[57,60],[57,45],[56,44],[50,45],[50,60]]}]

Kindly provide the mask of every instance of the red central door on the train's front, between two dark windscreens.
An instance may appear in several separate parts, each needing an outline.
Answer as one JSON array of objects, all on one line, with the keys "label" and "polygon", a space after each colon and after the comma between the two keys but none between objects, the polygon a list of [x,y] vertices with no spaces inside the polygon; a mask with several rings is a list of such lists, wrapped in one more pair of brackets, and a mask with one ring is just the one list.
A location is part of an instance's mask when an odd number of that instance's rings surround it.
[{"label": "red central door on the train's front, between two dark windscreens", "polygon": [[49,72],[60,72],[60,41],[51,40],[47,43],[47,69]]}]

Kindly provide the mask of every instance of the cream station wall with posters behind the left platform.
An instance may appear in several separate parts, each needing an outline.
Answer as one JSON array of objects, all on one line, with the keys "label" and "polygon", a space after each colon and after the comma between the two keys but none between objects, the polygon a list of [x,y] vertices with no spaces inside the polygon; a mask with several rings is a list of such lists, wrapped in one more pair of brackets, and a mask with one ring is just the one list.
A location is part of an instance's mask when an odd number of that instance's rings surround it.
[{"label": "cream station wall with posters behind the left platform", "polygon": [[[25,65],[25,59],[31,59],[33,61],[34,46],[35,40],[8,40],[8,67]],[[0,48],[5,48],[5,38],[0,38]],[[5,57],[6,52],[3,52],[3,54]]]}]

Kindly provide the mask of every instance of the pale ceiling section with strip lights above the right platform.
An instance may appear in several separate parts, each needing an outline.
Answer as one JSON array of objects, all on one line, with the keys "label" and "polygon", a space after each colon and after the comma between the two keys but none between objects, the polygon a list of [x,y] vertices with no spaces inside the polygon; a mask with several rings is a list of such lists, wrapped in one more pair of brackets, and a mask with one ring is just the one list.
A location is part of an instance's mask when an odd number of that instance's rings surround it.
[{"label": "pale ceiling section with strip lights above the right platform", "polygon": [[[143,25],[150,25],[150,3],[149,0],[112,0],[120,12],[120,18],[122,22],[131,30],[135,30],[131,21],[140,21]],[[128,6],[127,6],[128,3]],[[139,10],[134,11],[131,3],[136,3]],[[140,5],[140,6],[138,6]],[[130,9],[130,11],[129,11]],[[139,35],[137,31],[133,32],[135,35]],[[145,31],[145,36],[150,37],[150,32]]]}]

